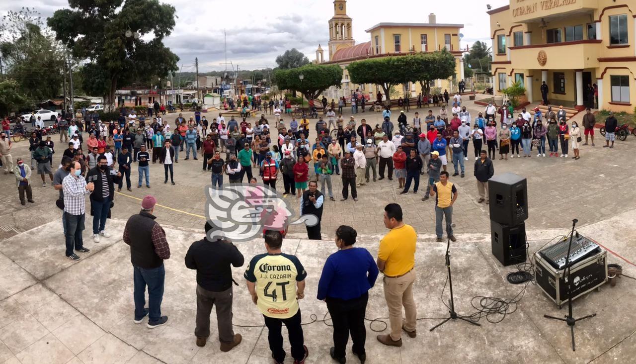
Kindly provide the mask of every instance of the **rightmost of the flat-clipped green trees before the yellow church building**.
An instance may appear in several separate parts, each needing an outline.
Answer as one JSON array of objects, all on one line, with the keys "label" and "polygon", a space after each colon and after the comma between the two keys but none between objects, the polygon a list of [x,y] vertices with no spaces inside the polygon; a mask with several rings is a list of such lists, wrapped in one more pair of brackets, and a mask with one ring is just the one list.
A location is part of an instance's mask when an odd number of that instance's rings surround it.
[{"label": "rightmost of the flat-clipped green trees before the yellow church building", "polygon": [[446,49],[401,58],[399,63],[406,73],[406,80],[420,83],[425,95],[431,94],[431,84],[435,80],[446,80],[455,75],[455,57]]}]

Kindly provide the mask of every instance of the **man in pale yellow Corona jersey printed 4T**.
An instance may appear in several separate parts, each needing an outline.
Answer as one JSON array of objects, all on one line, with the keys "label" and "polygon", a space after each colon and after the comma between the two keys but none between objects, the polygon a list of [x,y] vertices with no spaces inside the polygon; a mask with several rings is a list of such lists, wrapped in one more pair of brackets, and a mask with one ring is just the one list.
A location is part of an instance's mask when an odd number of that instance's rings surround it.
[{"label": "man in pale yellow Corona jersey printed 4T", "polygon": [[294,255],[280,252],[282,235],[273,230],[265,231],[267,253],[252,258],[245,270],[247,289],[252,302],[265,317],[269,330],[268,341],[272,358],[276,363],[285,360],[280,329],[284,323],[289,333],[291,356],[294,364],[303,364],[308,356],[304,345],[303,328],[300,326],[298,300],[305,297],[305,268]]}]

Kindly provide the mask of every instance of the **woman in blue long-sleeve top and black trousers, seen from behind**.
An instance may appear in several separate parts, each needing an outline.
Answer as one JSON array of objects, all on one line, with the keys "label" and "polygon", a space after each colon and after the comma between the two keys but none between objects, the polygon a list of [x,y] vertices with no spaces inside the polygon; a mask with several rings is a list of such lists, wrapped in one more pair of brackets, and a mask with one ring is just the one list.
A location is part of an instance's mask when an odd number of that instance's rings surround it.
[{"label": "woman in blue long-sleeve top and black trousers, seen from behind", "polygon": [[378,267],[367,249],[354,248],[357,232],[340,225],[336,230],[338,251],[327,258],[318,283],[318,299],[327,302],[333,322],[331,358],[345,363],[345,349],[351,333],[353,352],[364,363],[364,314],[368,291],[378,277]]}]

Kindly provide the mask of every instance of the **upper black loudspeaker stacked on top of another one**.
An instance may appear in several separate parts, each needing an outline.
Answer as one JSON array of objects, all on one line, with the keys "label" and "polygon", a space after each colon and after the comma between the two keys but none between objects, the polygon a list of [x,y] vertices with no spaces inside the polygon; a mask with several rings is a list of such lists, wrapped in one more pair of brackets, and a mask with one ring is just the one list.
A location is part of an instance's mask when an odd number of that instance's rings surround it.
[{"label": "upper black loudspeaker stacked on top of another one", "polygon": [[528,218],[526,179],[514,173],[494,176],[488,181],[490,220],[515,226]]}]

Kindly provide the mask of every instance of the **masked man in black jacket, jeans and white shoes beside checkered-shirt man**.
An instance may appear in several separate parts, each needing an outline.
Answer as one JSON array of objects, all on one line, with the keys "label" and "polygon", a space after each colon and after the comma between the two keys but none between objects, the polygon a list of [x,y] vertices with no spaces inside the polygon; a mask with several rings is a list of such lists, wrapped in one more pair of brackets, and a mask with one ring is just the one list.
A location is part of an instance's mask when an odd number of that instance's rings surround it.
[{"label": "masked man in black jacket, jeans and white shoes beside checkered-shirt man", "polygon": [[[86,174],[86,182],[95,183],[90,194],[90,206],[93,213],[93,241],[99,242],[99,236],[111,237],[104,229],[106,228],[106,218],[111,208],[111,201],[114,197],[114,171],[108,167],[106,157],[97,157],[97,167],[91,169]],[[121,172],[116,176],[121,177]]]}]

